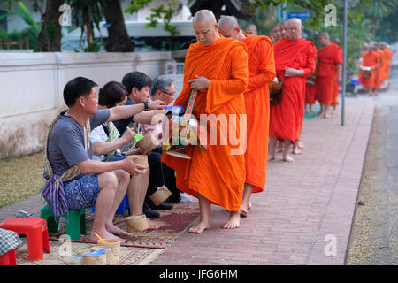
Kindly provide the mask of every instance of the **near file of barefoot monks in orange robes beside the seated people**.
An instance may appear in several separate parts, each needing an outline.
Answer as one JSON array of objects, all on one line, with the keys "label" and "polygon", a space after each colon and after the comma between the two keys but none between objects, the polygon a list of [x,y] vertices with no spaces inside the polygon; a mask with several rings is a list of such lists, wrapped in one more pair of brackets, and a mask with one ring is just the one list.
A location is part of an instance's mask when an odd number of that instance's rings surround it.
[{"label": "near file of barefoot monks in orange robes beside the seated people", "polygon": [[[197,42],[186,54],[184,88],[174,105],[186,107],[192,90],[197,90],[196,118],[233,114],[236,120],[228,124],[234,125],[241,125],[241,115],[247,119],[245,129],[227,127],[234,132],[229,136],[241,137],[241,131],[246,131],[245,152],[232,154],[240,145],[227,141],[208,142],[206,151],[189,145],[185,152],[190,159],[162,156],[176,172],[177,187],[198,198],[199,222],[189,232],[203,233],[210,228],[210,204],[229,211],[223,228],[240,226],[241,218],[253,207],[251,195],[264,191],[267,162],[275,159],[278,141],[283,145],[284,161],[295,161],[290,156],[292,145],[293,153],[300,153],[306,81],[316,70],[317,49],[302,38],[300,19],[274,27],[268,37],[257,35],[256,26],[247,27],[245,33],[233,17],[221,16],[217,22],[211,11],[201,10],[195,13],[193,28]],[[342,52],[328,34],[321,34],[320,42],[315,88],[319,89],[317,99],[325,104],[322,115],[328,117],[328,106],[336,99],[336,83],[341,81]],[[282,81],[282,96],[270,106],[268,84],[275,79]],[[218,140],[228,136],[224,127],[216,127]]]}]

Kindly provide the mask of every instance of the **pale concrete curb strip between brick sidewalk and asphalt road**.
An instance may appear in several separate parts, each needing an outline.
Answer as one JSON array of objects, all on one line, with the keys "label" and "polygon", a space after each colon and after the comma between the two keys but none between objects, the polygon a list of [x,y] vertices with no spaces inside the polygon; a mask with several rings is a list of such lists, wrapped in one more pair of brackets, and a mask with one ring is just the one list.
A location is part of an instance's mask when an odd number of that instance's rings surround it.
[{"label": "pale concrete curb strip between brick sidewalk and asphalt road", "polygon": [[[347,232],[351,231],[355,215],[374,109],[371,101],[364,106],[344,163],[341,165],[333,195],[320,223],[318,239],[306,260],[307,264],[345,264],[350,236]],[[336,241],[334,250],[333,241]]]}]

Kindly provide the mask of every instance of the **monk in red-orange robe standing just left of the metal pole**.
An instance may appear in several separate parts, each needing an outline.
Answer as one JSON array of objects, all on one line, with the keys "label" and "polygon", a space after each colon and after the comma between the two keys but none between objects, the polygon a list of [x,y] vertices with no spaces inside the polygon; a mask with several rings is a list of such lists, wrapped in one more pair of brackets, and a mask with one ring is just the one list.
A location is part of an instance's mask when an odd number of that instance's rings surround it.
[{"label": "monk in red-orange robe standing just left of the metal pole", "polygon": [[319,34],[321,49],[318,52],[316,99],[321,105],[319,116],[330,118],[329,106],[333,105],[336,81],[342,80],[342,52],[339,45],[330,42],[329,34]]}]

